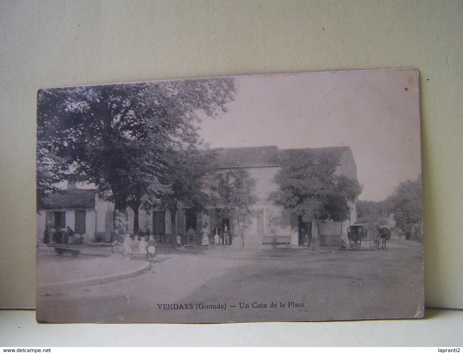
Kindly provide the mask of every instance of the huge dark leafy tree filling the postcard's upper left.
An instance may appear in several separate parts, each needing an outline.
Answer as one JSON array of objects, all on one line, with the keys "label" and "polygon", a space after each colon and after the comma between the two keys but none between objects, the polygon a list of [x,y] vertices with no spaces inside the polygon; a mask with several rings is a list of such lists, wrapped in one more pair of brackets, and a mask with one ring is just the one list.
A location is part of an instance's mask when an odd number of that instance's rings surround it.
[{"label": "huge dark leafy tree filling the postcard's upper left", "polygon": [[226,78],[40,90],[38,206],[56,181],[85,180],[117,213],[131,207],[138,230],[138,209],[175,193],[165,175],[197,145],[200,114],[226,111],[233,93]]}]

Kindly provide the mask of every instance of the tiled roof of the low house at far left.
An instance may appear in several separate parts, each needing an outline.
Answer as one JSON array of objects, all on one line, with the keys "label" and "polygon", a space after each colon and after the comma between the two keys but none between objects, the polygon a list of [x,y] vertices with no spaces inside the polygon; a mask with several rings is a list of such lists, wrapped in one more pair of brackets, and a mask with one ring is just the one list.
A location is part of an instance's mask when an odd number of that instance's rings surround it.
[{"label": "tiled roof of the low house at far left", "polygon": [[53,192],[44,200],[49,208],[94,208],[94,189],[75,189]]}]

